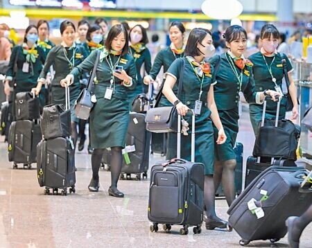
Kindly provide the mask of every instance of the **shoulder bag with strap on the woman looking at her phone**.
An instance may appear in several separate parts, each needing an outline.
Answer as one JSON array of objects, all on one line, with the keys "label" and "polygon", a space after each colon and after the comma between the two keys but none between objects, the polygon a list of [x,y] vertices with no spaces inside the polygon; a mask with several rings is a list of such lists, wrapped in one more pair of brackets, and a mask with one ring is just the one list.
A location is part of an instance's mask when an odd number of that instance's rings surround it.
[{"label": "shoulder bag with strap on the woman looking at her phone", "polygon": [[90,116],[90,112],[94,103],[92,102],[92,87],[94,85],[94,77],[96,76],[96,68],[98,67],[98,60],[100,60],[101,51],[97,51],[96,60],[94,62],[94,67],[92,69],[91,76],[89,77],[89,82],[86,88],[84,88],[77,100],[75,101],[74,109],[75,114],[78,118],[87,120]]}]

